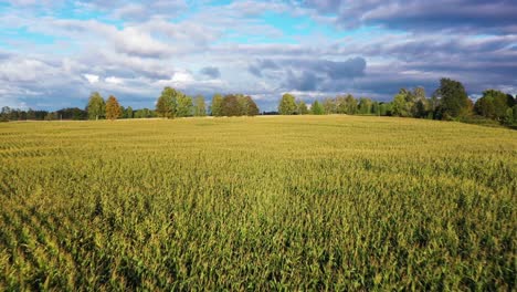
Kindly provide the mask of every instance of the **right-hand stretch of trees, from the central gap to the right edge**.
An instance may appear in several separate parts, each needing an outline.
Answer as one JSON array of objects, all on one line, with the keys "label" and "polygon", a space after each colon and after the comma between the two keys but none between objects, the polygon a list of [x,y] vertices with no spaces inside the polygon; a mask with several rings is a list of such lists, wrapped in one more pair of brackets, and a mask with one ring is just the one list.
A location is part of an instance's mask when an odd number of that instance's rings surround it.
[{"label": "right-hand stretch of trees, from the central gap to the right edge", "polygon": [[401,88],[391,102],[377,102],[371,98],[356,98],[351,94],[315,100],[310,107],[289,93],[278,103],[281,115],[378,115],[430,119],[462,121],[476,123],[484,119],[496,121],[505,125],[517,124],[517,101],[510,94],[496,90],[486,90],[474,104],[468,98],[461,82],[442,79],[440,86],[431,97],[426,97],[423,87]]}]

